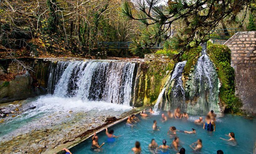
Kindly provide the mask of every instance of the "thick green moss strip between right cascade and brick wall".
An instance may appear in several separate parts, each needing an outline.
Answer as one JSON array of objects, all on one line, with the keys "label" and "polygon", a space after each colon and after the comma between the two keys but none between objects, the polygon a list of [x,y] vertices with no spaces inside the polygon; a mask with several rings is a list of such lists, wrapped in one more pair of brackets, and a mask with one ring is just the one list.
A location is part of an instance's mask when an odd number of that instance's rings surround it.
[{"label": "thick green moss strip between right cascade and brick wall", "polygon": [[207,53],[216,66],[221,81],[220,101],[226,105],[226,112],[239,114],[243,104],[235,95],[235,73],[231,67],[231,51],[227,46],[209,43]]}]

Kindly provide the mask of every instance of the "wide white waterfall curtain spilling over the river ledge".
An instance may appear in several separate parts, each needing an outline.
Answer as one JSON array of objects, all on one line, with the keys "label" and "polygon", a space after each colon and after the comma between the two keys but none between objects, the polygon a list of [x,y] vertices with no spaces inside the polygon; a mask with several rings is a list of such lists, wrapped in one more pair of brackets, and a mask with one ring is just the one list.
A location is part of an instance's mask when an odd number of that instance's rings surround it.
[{"label": "wide white waterfall curtain spilling over the river ledge", "polygon": [[134,62],[121,61],[57,62],[50,66],[48,90],[58,97],[129,106],[134,67]]}]

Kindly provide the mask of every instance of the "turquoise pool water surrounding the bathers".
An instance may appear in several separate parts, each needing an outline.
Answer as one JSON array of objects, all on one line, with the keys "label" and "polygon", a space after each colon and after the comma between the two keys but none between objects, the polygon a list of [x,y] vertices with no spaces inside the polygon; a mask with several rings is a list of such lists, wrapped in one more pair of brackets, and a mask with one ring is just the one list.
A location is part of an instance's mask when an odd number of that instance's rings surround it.
[{"label": "turquoise pool water surrounding the bathers", "polygon": [[[222,150],[224,154],[252,154],[253,146],[256,137],[256,120],[250,120],[245,117],[225,115],[225,117],[217,118],[216,122],[216,132],[207,132],[202,129],[203,126],[198,126],[194,124],[194,120],[198,116],[191,116],[189,120],[176,120],[169,119],[167,122],[161,121],[161,116],[150,115],[147,118],[142,118],[138,116],[141,120],[136,123],[134,127],[126,125],[126,122],[122,122],[110,129],[114,130],[114,135],[121,135],[121,137],[116,139],[114,143],[106,143],[103,145],[101,152],[94,152],[90,150],[91,139],[88,139],[79,145],[71,148],[73,154],[132,154],[131,148],[134,147],[135,141],[141,143],[142,154],[150,154],[148,145],[152,138],[156,140],[158,145],[162,143],[163,139],[167,140],[167,144],[170,145],[173,138],[167,135],[167,131],[170,126],[175,126],[178,130],[190,131],[191,128],[196,129],[196,134],[184,134],[177,132],[177,136],[180,138],[181,147],[186,149],[186,154],[216,154],[217,150]],[[158,126],[161,127],[160,131],[153,131],[152,125],[153,120],[157,120]],[[223,141],[220,137],[228,139],[225,136],[229,132],[235,133],[235,138],[237,140],[237,145],[233,145],[230,142]],[[106,142],[107,137],[105,132],[98,134],[99,144]],[[203,147],[200,152],[193,152],[189,145],[196,142],[197,139],[202,139]],[[156,152],[160,153],[160,152]],[[170,149],[170,154],[176,154],[177,151]]]}]

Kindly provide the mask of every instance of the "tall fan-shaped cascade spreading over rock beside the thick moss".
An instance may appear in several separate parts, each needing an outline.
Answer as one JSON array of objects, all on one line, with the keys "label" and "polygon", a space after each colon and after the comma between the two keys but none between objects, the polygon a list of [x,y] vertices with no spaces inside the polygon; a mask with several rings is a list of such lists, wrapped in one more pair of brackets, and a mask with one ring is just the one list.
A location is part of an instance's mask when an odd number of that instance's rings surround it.
[{"label": "tall fan-shaped cascade spreading over rock beside the thick moss", "polygon": [[202,56],[198,58],[190,80],[186,82],[187,112],[206,114],[219,111],[219,79],[215,67],[206,54],[207,44],[202,45]]}]

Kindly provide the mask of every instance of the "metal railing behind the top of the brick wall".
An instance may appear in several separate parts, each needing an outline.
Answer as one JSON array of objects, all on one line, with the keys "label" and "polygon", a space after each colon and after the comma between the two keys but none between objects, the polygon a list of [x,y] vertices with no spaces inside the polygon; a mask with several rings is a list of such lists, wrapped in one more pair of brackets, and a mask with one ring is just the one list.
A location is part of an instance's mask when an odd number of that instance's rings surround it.
[{"label": "metal railing behind the top of the brick wall", "polygon": [[241,28],[228,28],[228,29],[216,29],[212,30],[209,34],[209,39],[213,44],[223,44],[235,33],[239,32]]}]

